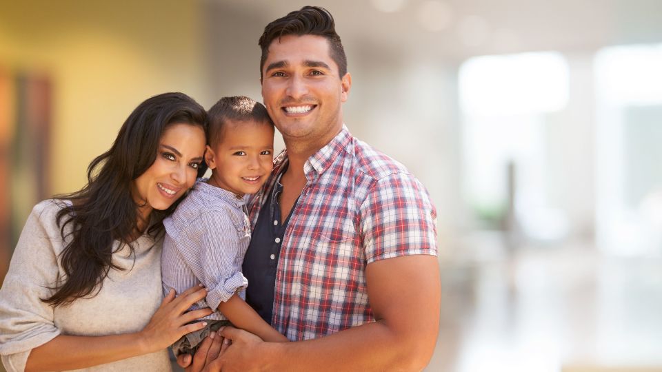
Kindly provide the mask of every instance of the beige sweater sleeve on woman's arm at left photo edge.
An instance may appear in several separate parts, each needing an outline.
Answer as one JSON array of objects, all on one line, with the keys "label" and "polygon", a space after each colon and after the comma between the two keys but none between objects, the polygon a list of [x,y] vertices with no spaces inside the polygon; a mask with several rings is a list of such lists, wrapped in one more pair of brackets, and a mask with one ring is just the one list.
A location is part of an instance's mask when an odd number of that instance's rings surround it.
[{"label": "beige sweater sleeve on woman's arm at left photo edge", "polygon": [[58,276],[59,209],[54,200],[32,209],[0,289],[0,355],[8,372],[23,371],[30,351],[60,334],[53,307],[41,300]]}]

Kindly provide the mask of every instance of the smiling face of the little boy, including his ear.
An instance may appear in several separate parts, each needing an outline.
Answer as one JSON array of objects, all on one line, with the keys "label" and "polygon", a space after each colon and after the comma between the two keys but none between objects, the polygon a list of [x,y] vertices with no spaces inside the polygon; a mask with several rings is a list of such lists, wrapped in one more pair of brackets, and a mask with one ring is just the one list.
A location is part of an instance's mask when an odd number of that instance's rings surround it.
[{"label": "smiling face of the little boy, including his ear", "polygon": [[274,128],[266,123],[228,121],[221,141],[207,146],[210,185],[239,196],[254,194],[274,166]]}]

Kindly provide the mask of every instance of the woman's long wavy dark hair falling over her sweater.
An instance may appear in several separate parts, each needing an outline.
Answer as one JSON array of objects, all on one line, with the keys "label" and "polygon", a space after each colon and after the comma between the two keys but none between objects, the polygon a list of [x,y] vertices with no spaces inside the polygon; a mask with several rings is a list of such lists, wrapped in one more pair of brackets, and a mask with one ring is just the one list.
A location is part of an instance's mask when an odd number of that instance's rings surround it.
[{"label": "woman's long wavy dark hair falling over her sweater", "polygon": [[[133,110],[112,147],[88,166],[88,184],[78,192],[59,196],[70,202],[57,214],[61,236],[69,242],[60,255],[64,276],[44,302],[59,306],[96,296],[110,269],[123,270],[112,263],[112,247],[115,240],[128,242],[137,232],[139,205],[132,197],[133,180],[156,160],[161,135],[169,125],[199,125],[206,134],[206,121],[204,108],[182,93],[153,96]],[[202,165],[198,176],[205,170]],[[163,231],[163,218],[177,204],[179,200],[165,211],[152,211],[148,233],[155,239]],[[67,225],[71,227],[68,234]],[[133,252],[134,247],[129,247]],[[94,289],[97,291],[91,294]]]}]

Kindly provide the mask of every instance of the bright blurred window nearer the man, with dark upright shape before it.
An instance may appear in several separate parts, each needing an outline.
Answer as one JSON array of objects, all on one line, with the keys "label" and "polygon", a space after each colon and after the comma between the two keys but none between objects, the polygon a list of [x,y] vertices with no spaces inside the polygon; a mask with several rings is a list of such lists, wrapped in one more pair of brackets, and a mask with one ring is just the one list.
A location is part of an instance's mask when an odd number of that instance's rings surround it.
[{"label": "bright blurred window nearer the man, with dark upright shape before it", "polygon": [[568,103],[565,58],[535,52],[469,59],[460,68],[459,97],[463,194],[477,221],[499,228],[516,217],[531,238],[561,238],[567,222],[548,203],[545,126]]}]

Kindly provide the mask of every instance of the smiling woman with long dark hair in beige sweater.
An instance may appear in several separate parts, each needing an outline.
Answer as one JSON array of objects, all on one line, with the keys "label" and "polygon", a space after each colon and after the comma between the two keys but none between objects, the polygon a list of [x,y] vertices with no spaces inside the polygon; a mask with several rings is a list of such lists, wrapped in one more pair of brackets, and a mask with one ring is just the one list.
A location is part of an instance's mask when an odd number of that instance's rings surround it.
[{"label": "smiling woman with long dark hair in beige sweater", "polygon": [[170,370],[166,348],[211,313],[184,313],[204,289],[161,289],[161,221],[205,171],[205,122],[185,94],[144,101],[88,185],[32,209],[0,289],[8,371]]}]

